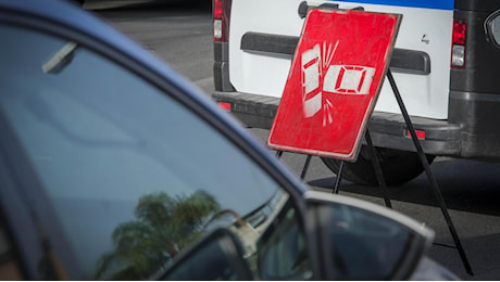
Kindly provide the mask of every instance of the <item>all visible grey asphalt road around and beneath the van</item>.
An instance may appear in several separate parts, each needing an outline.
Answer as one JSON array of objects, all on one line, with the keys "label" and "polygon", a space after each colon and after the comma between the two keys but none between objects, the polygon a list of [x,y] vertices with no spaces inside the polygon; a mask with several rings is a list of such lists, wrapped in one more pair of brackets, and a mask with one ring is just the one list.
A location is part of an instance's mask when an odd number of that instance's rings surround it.
[{"label": "all visible grey asphalt road around and beneath the van", "polygon": [[[109,21],[208,95],[213,91],[211,0],[88,0],[84,9]],[[263,142],[268,131],[249,129]],[[304,155],[285,153],[282,161],[298,175]],[[436,231],[430,256],[463,280],[500,280],[500,164],[437,158],[432,169],[439,183],[474,275],[462,260],[425,175],[389,189],[393,209]],[[313,157],[305,175],[312,188],[330,192],[335,175]],[[342,182],[340,193],[384,205],[382,190]]]}]

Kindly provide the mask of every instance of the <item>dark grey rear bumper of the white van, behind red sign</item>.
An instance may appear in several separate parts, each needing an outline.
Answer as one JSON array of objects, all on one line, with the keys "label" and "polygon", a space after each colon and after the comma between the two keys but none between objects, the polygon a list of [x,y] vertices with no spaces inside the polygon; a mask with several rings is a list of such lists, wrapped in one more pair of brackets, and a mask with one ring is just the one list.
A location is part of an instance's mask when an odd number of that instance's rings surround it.
[{"label": "dark grey rear bumper of the white van, behind red sign", "polygon": [[[271,129],[279,98],[240,92],[215,92],[216,102],[228,103],[230,113],[245,126]],[[420,132],[424,152],[432,155],[460,156],[462,126],[446,120],[411,117],[413,127]],[[376,146],[415,152],[407,124],[401,114],[374,112],[368,123],[370,133]]]}]

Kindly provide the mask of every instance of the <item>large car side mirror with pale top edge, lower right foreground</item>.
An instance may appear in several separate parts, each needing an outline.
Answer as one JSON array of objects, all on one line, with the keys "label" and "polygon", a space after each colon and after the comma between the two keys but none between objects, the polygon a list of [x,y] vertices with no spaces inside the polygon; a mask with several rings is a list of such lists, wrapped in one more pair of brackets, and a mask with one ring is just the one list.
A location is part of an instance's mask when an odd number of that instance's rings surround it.
[{"label": "large car side mirror with pale top edge, lower right foreground", "polygon": [[405,280],[434,232],[399,213],[364,201],[308,191],[308,218],[327,280]]}]

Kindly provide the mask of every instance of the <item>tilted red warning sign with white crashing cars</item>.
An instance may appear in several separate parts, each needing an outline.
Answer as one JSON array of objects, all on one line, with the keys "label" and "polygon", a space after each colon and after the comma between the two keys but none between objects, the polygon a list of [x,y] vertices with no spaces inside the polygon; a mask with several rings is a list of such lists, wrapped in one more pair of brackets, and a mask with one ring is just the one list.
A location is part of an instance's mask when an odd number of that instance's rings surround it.
[{"label": "tilted red warning sign with white crashing cars", "polygon": [[388,68],[400,17],[309,11],[267,144],[354,161]]}]

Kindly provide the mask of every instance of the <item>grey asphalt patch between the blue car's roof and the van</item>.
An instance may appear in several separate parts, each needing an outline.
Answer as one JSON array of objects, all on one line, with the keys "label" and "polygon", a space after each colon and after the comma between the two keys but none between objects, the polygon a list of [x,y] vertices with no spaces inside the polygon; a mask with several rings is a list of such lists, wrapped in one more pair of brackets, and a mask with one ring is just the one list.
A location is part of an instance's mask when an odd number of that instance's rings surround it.
[{"label": "grey asphalt patch between the blue car's roof and the van", "polygon": [[86,0],[101,15],[204,92],[213,90],[211,0]]}]

